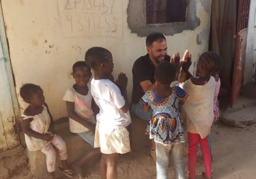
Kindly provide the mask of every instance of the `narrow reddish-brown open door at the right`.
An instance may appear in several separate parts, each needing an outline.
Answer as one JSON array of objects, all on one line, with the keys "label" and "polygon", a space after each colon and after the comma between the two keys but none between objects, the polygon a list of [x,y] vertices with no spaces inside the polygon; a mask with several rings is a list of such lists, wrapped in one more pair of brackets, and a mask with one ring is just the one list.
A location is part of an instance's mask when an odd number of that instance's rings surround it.
[{"label": "narrow reddish-brown open door at the right", "polygon": [[235,59],[232,79],[231,107],[235,104],[236,98],[241,94],[243,86],[243,66],[245,62],[249,6],[250,0],[239,0],[235,36]]}]

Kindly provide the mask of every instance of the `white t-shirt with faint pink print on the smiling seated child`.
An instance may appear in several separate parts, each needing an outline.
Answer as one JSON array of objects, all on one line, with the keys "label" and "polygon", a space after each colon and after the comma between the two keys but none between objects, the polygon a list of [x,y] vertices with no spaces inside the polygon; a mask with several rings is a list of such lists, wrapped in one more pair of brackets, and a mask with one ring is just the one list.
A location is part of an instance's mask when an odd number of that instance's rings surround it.
[{"label": "white t-shirt with faint pink print on the smiling seated child", "polygon": [[[81,118],[94,118],[94,112],[91,109],[92,95],[90,90],[90,85],[88,86],[88,94],[82,95],[76,92],[76,90],[72,87],[69,87],[67,92],[64,94],[63,100],[73,102],[75,106],[75,112]],[[79,122],[72,120],[69,118],[69,129],[72,133],[81,133],[86,132],[89,129],[84,127]]]}]

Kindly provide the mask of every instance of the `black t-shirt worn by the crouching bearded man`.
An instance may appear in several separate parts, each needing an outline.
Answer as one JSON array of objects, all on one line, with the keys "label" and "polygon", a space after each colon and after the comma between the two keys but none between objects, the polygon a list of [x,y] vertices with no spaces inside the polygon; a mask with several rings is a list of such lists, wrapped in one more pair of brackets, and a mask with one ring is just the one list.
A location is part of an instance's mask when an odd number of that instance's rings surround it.
[{"label": "black t-shirt worn by the crouching bearded man", "polygon": [[[170,56],[166,55],[165,61],[170,61]],[[141,97],[145,94],[140,82],[149,80],[154,83],[154,71],[156,70],[156,66],[154,66],[153,62],[149,58],[149,54],[146,54],[142,57],[136,59],[133,64],[133,92],[131,94],[131,102],[133,104],[137,104]]]}]

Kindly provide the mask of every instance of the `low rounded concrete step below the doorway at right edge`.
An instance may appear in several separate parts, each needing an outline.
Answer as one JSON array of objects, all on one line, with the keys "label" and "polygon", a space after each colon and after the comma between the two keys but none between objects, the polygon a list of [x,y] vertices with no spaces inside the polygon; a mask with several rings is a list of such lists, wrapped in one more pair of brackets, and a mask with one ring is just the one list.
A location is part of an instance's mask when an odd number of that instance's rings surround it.
[{"label": "low rounded concrete step below the doorway at right edge", "polygon": [[236,112],[223,113],[220,121],[239,128],[256,123],[256,106],[242,108]]}]

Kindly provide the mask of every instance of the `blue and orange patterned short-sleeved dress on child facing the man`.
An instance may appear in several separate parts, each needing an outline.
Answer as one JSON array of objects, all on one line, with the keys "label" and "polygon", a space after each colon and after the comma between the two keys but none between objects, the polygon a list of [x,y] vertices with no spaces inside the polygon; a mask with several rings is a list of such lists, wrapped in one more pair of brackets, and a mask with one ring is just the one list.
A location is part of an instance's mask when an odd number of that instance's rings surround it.
[{"label": "blue and orange patterned short-sleeved dress on child facing the man", "polygon": [[155,90],[149,90],[141,98],[143,105],[153,110],[150,120],[150,138],[163,145],[184,142],[184,126],[180,118],[178,104],[186,100],[188,94],[179,86],[172,87],[170,96],[160,98]]}]

